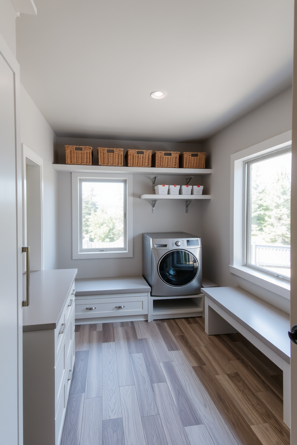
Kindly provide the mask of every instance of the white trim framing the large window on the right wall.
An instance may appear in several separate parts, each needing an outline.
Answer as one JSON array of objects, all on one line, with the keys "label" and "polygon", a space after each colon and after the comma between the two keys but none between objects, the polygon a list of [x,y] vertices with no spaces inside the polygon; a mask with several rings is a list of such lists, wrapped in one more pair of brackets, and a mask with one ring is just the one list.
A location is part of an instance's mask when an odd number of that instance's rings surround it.
[{"label": "white trim framing the large window on the right wall", "polygon": [[286,131],[231,155],[230,187],[230,272],[258,286],[290,298],[290,283],[243,265],[244,250],[244,162],[292,144],[292,131]]}]

